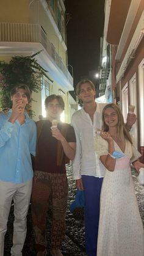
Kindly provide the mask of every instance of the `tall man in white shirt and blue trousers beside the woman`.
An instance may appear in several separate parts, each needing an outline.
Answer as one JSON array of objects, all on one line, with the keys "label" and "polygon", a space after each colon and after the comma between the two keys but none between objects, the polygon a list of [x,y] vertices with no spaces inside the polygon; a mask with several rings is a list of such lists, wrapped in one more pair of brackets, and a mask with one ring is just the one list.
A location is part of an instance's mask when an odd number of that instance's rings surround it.
[{"label": "tall man in white shirt and blue trousers beside the woman", "polygon": [[[104,169],[98,163],[94,150],[94,136],[101,129],[101,113],[106,104],[95,102],[95,86],[90,80],[77,84],[77,95],[83,108],[73,114],[71,123],[76,133],[76,156],[73,160],[73,179],[79,190],[85,192],[85,247],[89,256],[96,256],[99,199]],[[129,114],[126,126],[131,129],[135,114]]]}]

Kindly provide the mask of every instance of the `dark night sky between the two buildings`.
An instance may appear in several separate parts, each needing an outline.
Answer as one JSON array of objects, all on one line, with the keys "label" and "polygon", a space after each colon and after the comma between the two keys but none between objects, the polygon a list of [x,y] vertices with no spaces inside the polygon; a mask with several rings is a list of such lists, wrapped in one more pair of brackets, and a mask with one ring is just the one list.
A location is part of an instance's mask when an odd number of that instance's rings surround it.
[{"label": "dark night sky between the two buildings", "polygon": [[71,13],[67,24],[68,64],[73,66],[74,86],[99,65],[100,37],[104,28],[104,0],[65,0]]}]

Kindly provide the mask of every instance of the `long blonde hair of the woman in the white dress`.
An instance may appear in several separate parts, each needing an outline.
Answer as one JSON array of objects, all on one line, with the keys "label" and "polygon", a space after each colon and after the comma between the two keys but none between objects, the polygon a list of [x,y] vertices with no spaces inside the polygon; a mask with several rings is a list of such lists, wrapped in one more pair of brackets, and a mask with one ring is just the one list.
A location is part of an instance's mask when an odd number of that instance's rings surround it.
[{"label": "long blonde hair of the woman in the white dress", "polygon": [[123,114],[121,113],[120,108],[116,104],[110,103],[104,107],[102,112],[103,130],[109,131],[109,126],[107,126],[106,123],[104,122],[104,112],[106,111],[107,108],[113,108],[117,112],[117,115],[118,115],[117,133],[118,133],[118,136],[120,136],[121,141],[125,144],[125,139],[127,139],[132,144],[131,135],[129,134],[124,124]]}]

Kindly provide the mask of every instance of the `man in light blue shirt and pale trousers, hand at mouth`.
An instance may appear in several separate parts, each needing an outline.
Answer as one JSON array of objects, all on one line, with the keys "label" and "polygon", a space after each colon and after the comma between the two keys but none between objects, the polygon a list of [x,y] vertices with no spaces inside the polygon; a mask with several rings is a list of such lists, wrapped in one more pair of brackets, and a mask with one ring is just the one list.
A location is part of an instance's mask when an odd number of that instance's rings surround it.
[{"label": "man in light blue shirt and pale trousers, hand at mouth", "polygon": [[35,156],[36,126],[24,112],[31,99],[29,88],[19,84],[13,87],[10,97],[12,109],[0,114],[0,255],[4,255],[4,236],[13,199],[15,221],[11,254],[22,256],[32,190],[31,154]]}]

